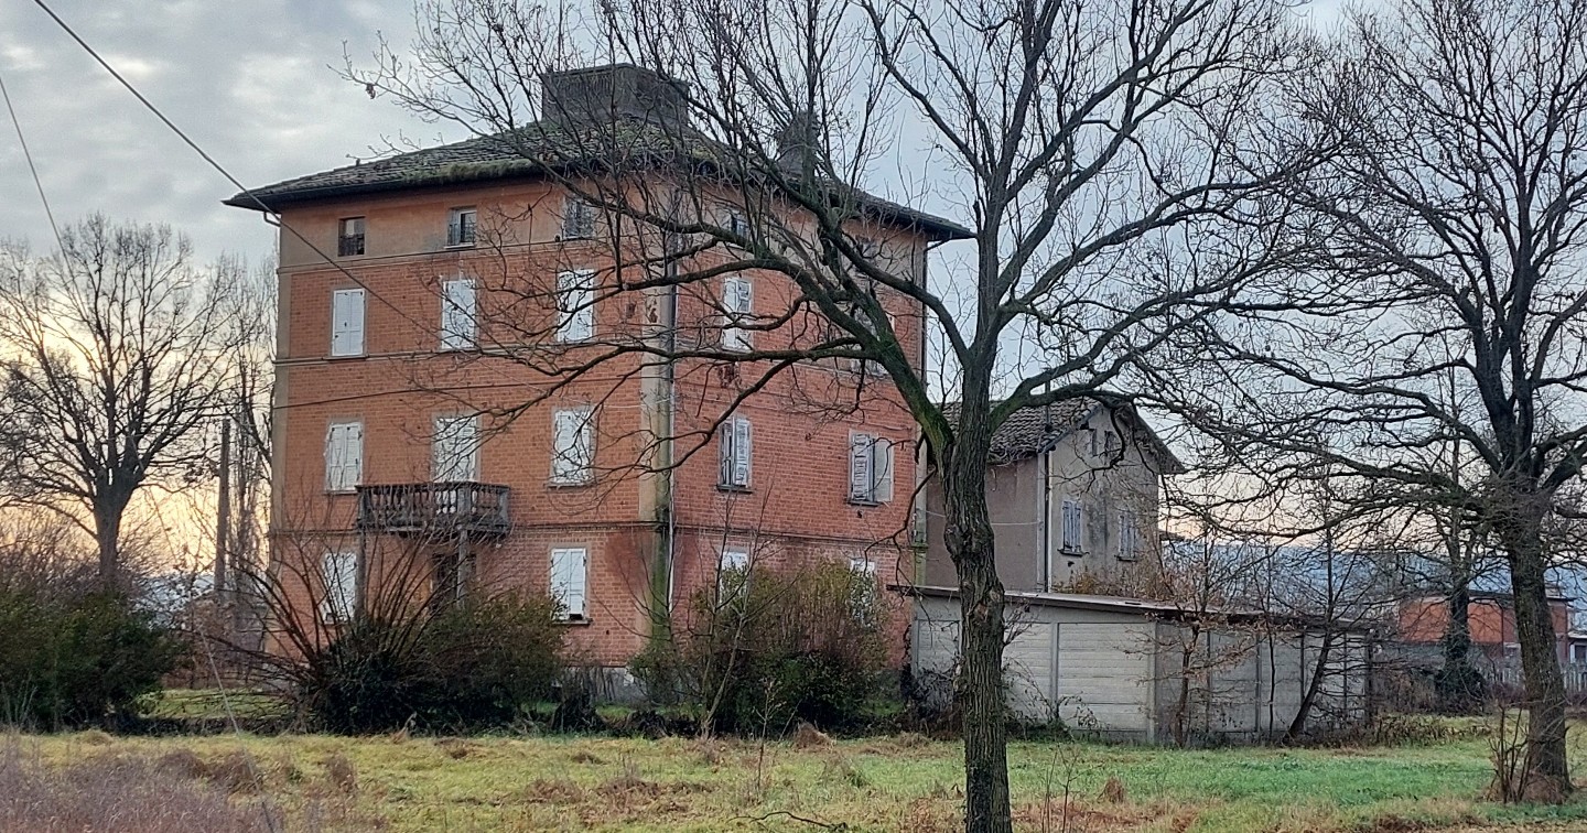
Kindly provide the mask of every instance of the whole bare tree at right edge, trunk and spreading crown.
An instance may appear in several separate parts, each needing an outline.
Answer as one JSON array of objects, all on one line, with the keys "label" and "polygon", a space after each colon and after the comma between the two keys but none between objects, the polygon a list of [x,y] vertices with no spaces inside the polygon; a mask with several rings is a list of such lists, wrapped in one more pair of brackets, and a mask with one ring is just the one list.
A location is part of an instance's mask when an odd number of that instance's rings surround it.
[{"label": "whole bare tree at right edge, trunk and spreading crown", "polygon": [[[1490,530],[1525,666],[1520,782],[1558,800],[1571,781],[1543,532],[1587,457],[1587,3],[1385,6],[1352,13],[1301,95],[1295,140],[1336,148],[1285,194],[1316,254],[1252,301],[1284,311],[1227,330],[1233,349],[1212,359],[1252,370],[1243,405],[1266,419],[1246,436],[1276,451],[1270,471],[1320,455],[1373,501]],[[1451,444],[1470,452],[1460,473]]]}]

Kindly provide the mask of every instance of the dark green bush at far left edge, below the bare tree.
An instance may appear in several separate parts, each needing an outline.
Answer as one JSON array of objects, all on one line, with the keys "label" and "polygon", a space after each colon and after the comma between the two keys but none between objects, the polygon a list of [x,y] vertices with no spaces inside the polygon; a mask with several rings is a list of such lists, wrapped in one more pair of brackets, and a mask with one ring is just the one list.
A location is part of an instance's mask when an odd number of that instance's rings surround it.
[{"label": "dark green bush at far left edge, below the bare tree", "polygon": [[124,595],[24,582],[0,589],[0,722],[43,728],[130,717],[184,655]]}]

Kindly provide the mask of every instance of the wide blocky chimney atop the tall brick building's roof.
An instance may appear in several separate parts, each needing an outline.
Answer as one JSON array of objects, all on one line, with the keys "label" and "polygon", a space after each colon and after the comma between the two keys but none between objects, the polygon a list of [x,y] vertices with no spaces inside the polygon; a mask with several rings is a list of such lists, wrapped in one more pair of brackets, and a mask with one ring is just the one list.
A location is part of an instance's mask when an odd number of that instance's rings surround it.
[{"label": "wide blocky chimney atop the tall brick building's roof", "polygon": [[609,125],[617,119],[686,125],[686,89],[681,81],[633,63],[546,73],[540,78],[540,114],[563,127]]}]

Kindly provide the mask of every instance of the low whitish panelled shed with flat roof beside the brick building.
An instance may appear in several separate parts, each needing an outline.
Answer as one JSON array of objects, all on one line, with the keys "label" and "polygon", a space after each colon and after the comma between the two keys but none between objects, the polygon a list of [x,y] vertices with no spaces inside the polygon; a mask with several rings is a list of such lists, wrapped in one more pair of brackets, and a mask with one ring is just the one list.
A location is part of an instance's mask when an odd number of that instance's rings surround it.
[{"label": "low whitish panelled shed with flat roof beside the brick building", "polygon": [[[959,598],[944,587],[908,592],[916,692],[946,706],[959,668]],[[1008,704],[1027,722],[1060,719],[1122,741],[1251,741],[1284,735],[1314,679],[1308,730],[1368,712],[1371,643],[1358,630],[1330,633],[1254,611],[1219,611],[1197,627],[1171,605],[1025,592],[1008,593],[1006,620]]]}]

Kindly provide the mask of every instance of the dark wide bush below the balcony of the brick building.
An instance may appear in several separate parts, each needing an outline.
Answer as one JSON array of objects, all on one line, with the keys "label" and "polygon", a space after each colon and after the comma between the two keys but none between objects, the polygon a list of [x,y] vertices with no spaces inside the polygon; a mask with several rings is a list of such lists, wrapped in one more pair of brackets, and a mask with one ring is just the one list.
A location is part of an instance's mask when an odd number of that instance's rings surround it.
[{"label": "dark wide bush below the balcony of the brick building", "polygon": [[435,616],[362,617],[305,658],[300,706],[330,731],[505,725],[562,673],[555,605],[498,597]]}]

